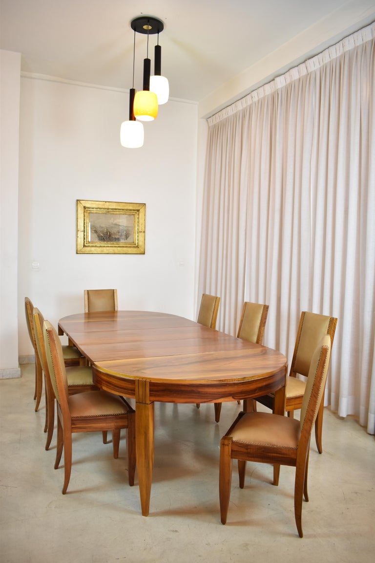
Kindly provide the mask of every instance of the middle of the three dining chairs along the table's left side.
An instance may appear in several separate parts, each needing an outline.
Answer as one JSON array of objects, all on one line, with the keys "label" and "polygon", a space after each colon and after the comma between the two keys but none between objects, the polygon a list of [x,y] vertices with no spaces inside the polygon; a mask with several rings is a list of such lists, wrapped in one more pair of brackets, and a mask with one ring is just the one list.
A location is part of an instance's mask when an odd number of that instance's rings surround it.
[{"label": "middle of the three dining chairs along the table's left side", "polygon": [[[53,427],[55,426],[55,392],[53,391],[51,377],[49,376],[46,347],[43,338],[44,317],[42,313],[34,307],[33,310],[33,329],[35,341],[37,343],[37,354],[42,372],[44,373],[44,388],[46,390],[46,424],[44,432],[47,432],[46,450],[51,445]],[[85,391],[97,391],[99,388],[94,385],[92,380],[92,368],[81,365],[66,367],[67,391],[69,395],[82,393]],[[103,436],[103,441],[107,441],[107,436]]]}]

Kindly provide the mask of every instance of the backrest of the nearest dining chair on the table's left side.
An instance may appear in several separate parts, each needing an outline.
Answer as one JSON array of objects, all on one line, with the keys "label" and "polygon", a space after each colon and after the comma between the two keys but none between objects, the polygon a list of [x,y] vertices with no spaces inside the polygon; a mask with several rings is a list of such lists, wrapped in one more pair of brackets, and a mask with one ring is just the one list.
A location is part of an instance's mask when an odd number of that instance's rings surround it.
[{"label": "backrest of the nearest dining chair on the table's left side", "polygon": [[48,365],[49,377],[55,397],[60,403],[63,417],[66,412],[69,412],[67,404],[68,387],[67,377],[64,364],[64,356],[62,355],[62,346],[60,338],[52,327],[52,324],[45,320],[43,323],[43,339],[44,347],[46,348],[46,358]]}]

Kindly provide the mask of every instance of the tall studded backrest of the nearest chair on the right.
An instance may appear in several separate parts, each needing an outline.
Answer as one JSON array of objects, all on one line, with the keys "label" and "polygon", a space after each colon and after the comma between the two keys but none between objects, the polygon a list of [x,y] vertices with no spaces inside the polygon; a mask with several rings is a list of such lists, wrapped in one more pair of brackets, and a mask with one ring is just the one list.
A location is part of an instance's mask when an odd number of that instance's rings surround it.
[{"label": "tall studded backrest of the nearest chair on the right", "polygon": [[324,388],[326,387],[329,360],[331,359],[331,337],[323,336],[311,357],[306,390],[302,400],[300,428],[307,439],[317,418]]}]

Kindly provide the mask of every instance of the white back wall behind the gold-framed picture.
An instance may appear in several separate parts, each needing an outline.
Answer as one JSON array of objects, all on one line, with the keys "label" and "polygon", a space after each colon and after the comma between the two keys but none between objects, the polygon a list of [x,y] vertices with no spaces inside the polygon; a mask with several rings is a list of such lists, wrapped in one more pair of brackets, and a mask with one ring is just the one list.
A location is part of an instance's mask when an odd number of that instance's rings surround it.
[{"label": "white back wall behind the gold-framed picture", "polygon": [[[22,78],[20,107],[20,356],[32,353],[25,296],[55,325],[83,312],[86,288],[194,318],[197,105],[160,106],[141,149],[120,145],[125,93]],[[77,199],[146,203],[146,253],[76,254]]]}]

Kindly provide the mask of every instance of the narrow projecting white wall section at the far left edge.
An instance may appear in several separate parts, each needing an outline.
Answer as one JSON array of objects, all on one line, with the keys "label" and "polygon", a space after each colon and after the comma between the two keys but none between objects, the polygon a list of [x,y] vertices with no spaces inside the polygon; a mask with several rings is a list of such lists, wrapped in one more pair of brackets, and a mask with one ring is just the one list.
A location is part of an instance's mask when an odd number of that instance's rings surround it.
[{"label": "narrow projecting white wall section at the far left edge", "polygon": [[0,377],[20,377],[17,205],[21,55],[0,51]]}]

